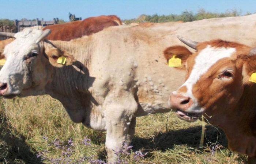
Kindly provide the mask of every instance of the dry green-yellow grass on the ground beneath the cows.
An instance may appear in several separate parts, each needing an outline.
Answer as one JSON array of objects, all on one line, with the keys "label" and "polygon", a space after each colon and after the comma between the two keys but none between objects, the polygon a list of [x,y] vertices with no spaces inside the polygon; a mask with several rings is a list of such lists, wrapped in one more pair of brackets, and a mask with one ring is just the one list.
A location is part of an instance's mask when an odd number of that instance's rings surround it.
[{"label": "dry green-yellow grass on the ground beneath the cows", "polygon": [[[206,126],[204,147],[200,149],[201,125],[201,121],[181,121],[174,113],[138,117],[131,154],[123,156],[122,160],[129,164],[246,163],[247,157],[229,151],[223,131],[211,125]],[[0,163],[105,160],[105,135],[105,132],[73,123],[60,102],[47,95],[0,98]],[[83,144],[86,136],[91,145]],[[68,144],[70,138],[72,146]],[[55,143],[60,144],[59,148],[53,143],[55,139],[58,139]],[[136,161],[135,152],[139,150],[147,154]],[[43,155],[37,157],[38,153]]]}]

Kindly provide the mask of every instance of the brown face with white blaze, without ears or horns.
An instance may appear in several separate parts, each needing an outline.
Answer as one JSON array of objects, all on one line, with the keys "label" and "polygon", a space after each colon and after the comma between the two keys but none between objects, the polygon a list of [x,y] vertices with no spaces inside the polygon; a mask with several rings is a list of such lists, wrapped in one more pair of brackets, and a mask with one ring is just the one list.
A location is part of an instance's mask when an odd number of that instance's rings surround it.
[{"label": "brown face with white blaze, without ears or horns", "polygon": [[222,40],[197,47],[198,52],[187,59],[185,83],[169,99],[177,116],[186,121],[195,121],[203,113],[215,117],[232,112],[243,94],[244,60],[240,58],[250,50]]}]

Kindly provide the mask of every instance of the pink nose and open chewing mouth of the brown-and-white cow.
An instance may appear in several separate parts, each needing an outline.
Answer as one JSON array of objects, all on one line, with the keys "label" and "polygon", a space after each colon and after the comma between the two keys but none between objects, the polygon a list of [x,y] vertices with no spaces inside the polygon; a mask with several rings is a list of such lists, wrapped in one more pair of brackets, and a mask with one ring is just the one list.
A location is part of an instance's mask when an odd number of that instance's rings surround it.
[{"label": "pink nose and open chewing mouth of the brown-and-white cow", "polygon": [[201,113],[187,111],[193,106],[193,100],[181,93],[173,92],[170,95],[169,103],[171,108],[176,109],[175,113],[181,120],[194,122],[201,116]]}]

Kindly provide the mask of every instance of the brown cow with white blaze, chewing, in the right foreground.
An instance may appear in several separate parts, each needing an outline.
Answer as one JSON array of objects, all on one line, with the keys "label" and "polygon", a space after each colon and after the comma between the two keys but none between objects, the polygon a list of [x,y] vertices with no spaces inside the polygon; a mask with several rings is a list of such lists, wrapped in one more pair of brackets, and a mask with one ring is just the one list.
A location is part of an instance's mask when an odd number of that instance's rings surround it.
[{"label": "brown cow with white blaze, chewing, in the right foreground", "polygon": [[[230,149],[256,157],[256,83],[249,81],[256,72],[256,48],[223,40],[196,43],[179,38],[197,52],[191,55],[184,47],[167,49],[187,58],[185,83],[170,95],[170,106],[182,120],[195,121],[204,115],[225,131]],[[172,53],[165,53],[166,59]]]}]

